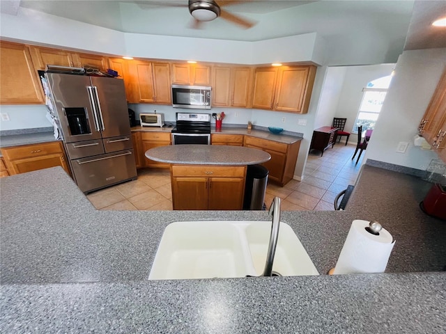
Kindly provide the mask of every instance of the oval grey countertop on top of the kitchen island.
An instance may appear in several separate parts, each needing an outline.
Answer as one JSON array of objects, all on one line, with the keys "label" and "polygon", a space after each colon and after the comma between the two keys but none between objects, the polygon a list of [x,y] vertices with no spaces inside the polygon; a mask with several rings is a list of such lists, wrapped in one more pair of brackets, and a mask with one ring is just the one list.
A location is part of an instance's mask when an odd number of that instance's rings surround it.
[{"label": "oval grey countertop on top of the kitchen island", "polygon": [[255,148],[225,145],[169,145],[146,151],[146,157],[168,164],[232,165],[261,164],[271,159],[269,153]]}]

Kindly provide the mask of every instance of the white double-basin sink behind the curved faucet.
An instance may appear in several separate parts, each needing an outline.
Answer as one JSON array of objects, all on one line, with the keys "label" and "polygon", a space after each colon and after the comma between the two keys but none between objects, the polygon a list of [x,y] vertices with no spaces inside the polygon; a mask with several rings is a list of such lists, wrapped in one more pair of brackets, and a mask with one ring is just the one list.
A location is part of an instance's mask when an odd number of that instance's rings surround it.
[{"label": "white double-basin sink behind the curved faucet", "polygon": [[[181,221],[164,230],[149,280],[261,276],[271,221]],[[318,275],[293,229],[280,223],[272,271]]]}]

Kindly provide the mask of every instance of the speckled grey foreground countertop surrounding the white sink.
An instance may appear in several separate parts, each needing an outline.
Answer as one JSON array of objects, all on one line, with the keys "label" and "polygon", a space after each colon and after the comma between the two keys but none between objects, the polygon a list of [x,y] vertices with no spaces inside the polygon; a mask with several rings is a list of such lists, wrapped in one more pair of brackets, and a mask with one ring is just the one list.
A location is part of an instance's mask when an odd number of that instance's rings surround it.
[{"label": "speckled grey foreground countertop surrounding the white sink", "polygon": [[0,182],[1,333],[446,331],[446,225],[413,205],[429,189],[415,177],[365,166],[345,212],[282,212],[320,273],[351,221],[378,219],[397,239],[387,273],[159,281],[169,223],[268,214],[98,211],[61,168]]}]

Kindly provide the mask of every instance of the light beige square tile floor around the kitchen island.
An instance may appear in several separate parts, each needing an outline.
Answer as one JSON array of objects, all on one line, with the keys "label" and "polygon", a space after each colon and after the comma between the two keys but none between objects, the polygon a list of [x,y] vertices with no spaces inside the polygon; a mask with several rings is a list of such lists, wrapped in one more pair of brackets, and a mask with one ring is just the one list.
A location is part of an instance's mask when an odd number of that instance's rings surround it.
[{"label": "light beige square tile floor around the kitchen island", "polygon": [[[355,146],[338,143],[334,148],[309,153],[302,182],[291,180],[284,187],[268,184],[265,202],[282,198],[282,210],[333,210],[337,193],[355,184],[361,160],[351,160]],[[139,170],[138,180],[118,184],[87,196],[101,210],[171,210],[169,170]]]}]

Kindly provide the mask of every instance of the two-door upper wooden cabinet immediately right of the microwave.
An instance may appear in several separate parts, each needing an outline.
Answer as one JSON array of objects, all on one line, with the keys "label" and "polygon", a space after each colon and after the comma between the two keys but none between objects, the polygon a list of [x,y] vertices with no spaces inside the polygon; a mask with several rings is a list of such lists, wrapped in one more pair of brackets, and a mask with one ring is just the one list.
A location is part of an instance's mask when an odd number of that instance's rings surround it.
[{"label": "two-door upper wooden cabinet immediately right of the microwave", "polygon": [[213,67],[213,106],[249,106],[251,67]]}]

